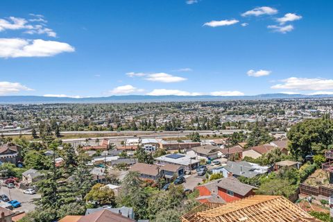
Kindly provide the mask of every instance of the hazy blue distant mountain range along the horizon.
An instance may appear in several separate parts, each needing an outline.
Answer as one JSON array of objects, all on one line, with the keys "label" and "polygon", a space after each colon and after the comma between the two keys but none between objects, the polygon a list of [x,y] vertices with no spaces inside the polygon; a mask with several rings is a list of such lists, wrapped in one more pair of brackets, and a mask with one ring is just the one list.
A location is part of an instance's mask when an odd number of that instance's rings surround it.
[{"label": "hazy blue distant mountain range along the horizon", "polygon": [[333,99],[333,95],[302,94],[259,94],[255,96],[108,96],[89,98],[46,97],[46,96],[0,96],[0,103],[145,103],[167,101],[225,101],[225,100],[267,100],[267,99]]}]

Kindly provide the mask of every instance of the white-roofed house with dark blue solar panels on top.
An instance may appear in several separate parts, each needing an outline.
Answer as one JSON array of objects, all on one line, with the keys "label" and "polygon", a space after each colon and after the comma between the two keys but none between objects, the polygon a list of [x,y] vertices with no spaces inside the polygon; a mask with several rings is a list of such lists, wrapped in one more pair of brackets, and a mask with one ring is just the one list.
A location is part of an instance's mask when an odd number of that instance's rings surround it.
[{"label": "white-roofed house with dark blue solar panels on top", "polygon": [[178,153],[156,157],[155,161],[157,164],[160,165],[165,165],[165,164],[180,165],[184,167],[185,170],[196,169],[200,164],[200,160],[194,160],[193,157],[191,157],[190,155],[183,155]]}]

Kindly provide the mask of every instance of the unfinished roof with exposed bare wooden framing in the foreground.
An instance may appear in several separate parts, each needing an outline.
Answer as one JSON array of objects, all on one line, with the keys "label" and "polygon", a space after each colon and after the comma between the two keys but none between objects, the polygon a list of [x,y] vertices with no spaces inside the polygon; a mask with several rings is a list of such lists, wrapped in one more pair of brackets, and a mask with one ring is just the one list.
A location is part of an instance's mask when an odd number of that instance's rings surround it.
[{"label": "unfinished roof with exposed bare wooden framing in the foreground", "polygon": [[[205,206],[205,207],[204,207]],[[283,196],[255,195],[223,205],[200,205],[182,222],[317,222]]]}]

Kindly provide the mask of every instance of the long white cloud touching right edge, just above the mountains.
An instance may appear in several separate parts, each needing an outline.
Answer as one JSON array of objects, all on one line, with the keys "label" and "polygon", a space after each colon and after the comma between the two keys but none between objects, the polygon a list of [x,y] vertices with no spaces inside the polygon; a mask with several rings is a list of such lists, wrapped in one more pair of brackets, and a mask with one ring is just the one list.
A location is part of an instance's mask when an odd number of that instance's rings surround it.
[{"label": "long white cloud touching right edge, just above the mountains", "polygon": [[333,89],[333,79],[324,78],[296,78],[282,80],[282,84],[273,85],[272,89],[297,89],[297,90],[327,90]]}]

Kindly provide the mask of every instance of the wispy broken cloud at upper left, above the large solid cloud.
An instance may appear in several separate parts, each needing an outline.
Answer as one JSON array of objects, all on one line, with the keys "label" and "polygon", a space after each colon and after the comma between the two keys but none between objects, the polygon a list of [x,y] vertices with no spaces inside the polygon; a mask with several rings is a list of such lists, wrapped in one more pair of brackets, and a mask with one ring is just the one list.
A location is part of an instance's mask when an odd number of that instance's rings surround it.
[{"label": "wispy broken cloud at upper left, above the large solid cloud", "polygon": [[[33,15],[34,19],[29,19],[29,22],[24,18],[9,17],[8,19],[0,19],[0,32],[5,30],[26,30],[27,34],[46,34],[49,37],[56,37],[57,34],[51,28],[46,28],[47,21],[42,19],[42,15]],[[36,24],[37,22],[37,24]]]}]

